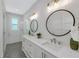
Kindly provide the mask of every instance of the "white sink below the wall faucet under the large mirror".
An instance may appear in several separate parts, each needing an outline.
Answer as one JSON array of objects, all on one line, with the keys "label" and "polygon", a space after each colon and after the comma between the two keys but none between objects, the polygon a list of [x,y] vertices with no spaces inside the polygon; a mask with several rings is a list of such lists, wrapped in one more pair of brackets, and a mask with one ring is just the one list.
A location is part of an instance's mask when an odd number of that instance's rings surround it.
[{"label": "white sink below the wall faucet under the large mirror", "polygon": [[47,47],[47,48],[56,50],[56,51],[59,51],[62,48],[62,46],[63,46],[62,44],[57,44],[57,43],[55,44],[55,43],[53,43],[53,42],[51,43],[49,41],[44,42],[42,45]]}]

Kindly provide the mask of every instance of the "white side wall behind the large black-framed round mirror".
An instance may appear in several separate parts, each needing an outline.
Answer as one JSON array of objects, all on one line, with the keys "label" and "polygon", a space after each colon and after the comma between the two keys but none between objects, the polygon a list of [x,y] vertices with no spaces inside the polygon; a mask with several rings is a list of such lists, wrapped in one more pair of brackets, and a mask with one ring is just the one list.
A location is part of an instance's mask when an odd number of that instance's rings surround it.
[{"label": "white side wall behind the large black-framed round mirror", "polygon": [[[25,14],[24,19],[27,20],[29,19],[29,16],[33,13],[33,12],[37,12],[38,13],[38,23],[39,23],[39,27],[38,27],[38,31],[37,32],[41,32],[43,37],[45,38],[52,38],[55,36],[50,35],[47,32],[47,29],[45,27],[46,25],[46,19],[48,17],[48,15],[51,13],[47,12],[47,3],[49,0],[39,0],[35,5],[32,6],[32,8]],[[63,0],[62,0],[63,1]],[[65,0],[66,1],[66,0]],[[70,1],[70,0],[69,0]],[[61,3],[62,4],[62,3]],[[60,6],[58,9],[66,9],[71,11],[75,18],[76,18],[76,24],[79,22],[79,0],[71,0],[71,3],[68,5],[63,5],[62,7]],[[64,45],[68,45],[69,46],[69,41],[70,41],[70,34],[63,36],[63,37],[55,37],[57,40],[60,40],[63,42]]]}]

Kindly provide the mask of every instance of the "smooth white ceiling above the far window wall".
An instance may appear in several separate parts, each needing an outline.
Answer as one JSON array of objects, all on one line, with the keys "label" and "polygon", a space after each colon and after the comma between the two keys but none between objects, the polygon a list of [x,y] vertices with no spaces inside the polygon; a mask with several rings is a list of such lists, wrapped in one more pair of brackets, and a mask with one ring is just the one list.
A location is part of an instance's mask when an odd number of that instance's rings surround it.
[{"label": "smooth white ceiling above the far window wall", "polygon": [[7,12],[24,14],[37,0],[4,0]]}]

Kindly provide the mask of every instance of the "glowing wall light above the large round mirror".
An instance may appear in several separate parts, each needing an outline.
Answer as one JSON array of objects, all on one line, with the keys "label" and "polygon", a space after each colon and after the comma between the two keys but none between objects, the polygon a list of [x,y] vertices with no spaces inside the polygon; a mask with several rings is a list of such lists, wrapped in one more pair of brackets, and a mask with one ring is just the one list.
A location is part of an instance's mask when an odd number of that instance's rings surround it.
[{"label": "glowing wall light above the large round mirror", "polygon": [[51,12],[52,10],[57,10],[58,8],[64,7],[72,2],[73,0],[50,0],[47,4],[47,11]]}]

